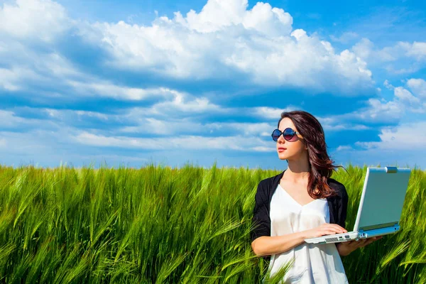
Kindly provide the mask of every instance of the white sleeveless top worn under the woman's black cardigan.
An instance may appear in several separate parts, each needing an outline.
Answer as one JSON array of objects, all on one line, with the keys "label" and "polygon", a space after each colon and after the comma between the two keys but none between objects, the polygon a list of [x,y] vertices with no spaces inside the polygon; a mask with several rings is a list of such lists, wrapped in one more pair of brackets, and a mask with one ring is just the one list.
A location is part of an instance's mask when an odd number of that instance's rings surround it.
[{"label": "white sleeveless top worn under the woman's black cardigan", "polygon": [[[271,200],[271,236],[305,231],[329,223],[327,199],[300,205],[278,185]],[[276,273],[294,258],[284,276],[285,283],[348,283],[342,259],[335,244],[303,243],[289,251],[271,256],[269,271]]]}]

